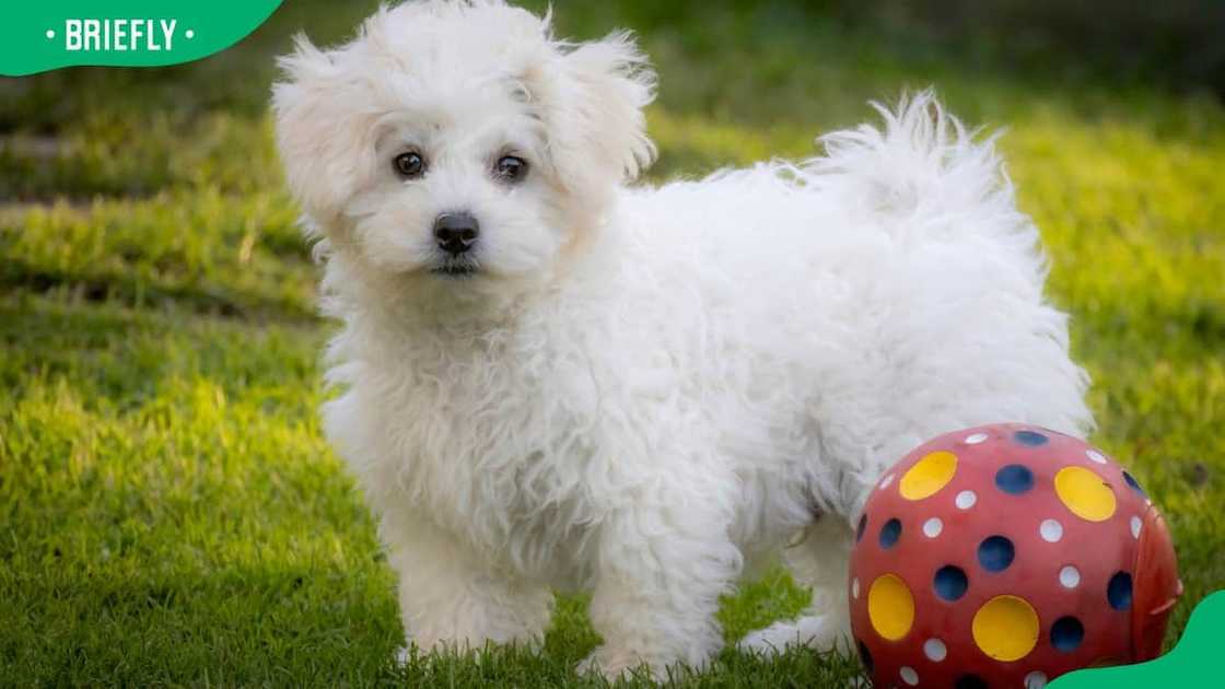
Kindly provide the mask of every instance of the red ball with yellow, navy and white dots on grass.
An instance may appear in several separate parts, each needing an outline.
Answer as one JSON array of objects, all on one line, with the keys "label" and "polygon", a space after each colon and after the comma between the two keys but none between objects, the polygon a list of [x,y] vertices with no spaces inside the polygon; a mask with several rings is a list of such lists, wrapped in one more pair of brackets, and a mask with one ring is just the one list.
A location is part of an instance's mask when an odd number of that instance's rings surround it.
[{"label": "red ball with yellow, navy and white dots on grass", "polygon": [[851,630],[876,687],[1036,689],[1158,656],[1182,593],[1170,533],[1136,479],[1023,424],[942,435],[869,497]]}]

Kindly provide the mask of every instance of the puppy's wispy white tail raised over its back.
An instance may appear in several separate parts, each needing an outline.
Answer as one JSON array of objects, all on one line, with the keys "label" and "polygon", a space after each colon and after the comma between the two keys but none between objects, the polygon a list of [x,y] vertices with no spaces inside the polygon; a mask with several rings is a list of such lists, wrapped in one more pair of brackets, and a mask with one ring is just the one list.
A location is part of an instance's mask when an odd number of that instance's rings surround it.
[{"label": "puppy's wispy white tail raised over its back", "polygon": [[[889,223],[897,232],[924,232],[930,239],[932,232],[991,228],[1022,243],[1036,243],[1033,223],[1017,210],[1012,183],[996,154],[998,132],[980,136],[978,130],[967,130],[930,89],[903,96],[895,108],[872,107],[881,113],[881,125],[861,125],[818,140],[826,156],[801,166],[810,183],[823,190],[837,188],[839,199],[861,211],[911,221]],[[978,222],[947,222],[965,212]],[[916,226],[916,218],[936,222]]]}]

